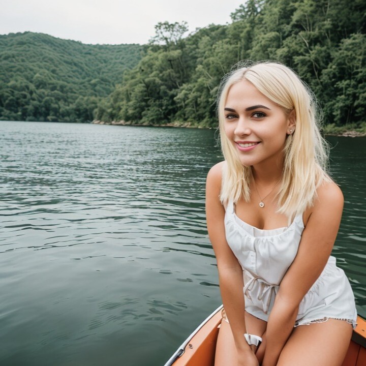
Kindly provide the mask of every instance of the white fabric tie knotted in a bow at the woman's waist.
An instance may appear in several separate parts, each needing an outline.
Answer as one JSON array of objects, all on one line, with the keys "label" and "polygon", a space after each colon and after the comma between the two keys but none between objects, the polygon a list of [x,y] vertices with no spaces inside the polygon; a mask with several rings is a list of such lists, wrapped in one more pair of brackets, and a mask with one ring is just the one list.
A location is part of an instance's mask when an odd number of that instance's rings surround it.
[{"label": "white fabric tie knotted in a bow at the woman's waist", "polygon": [[278,285],[265,282],[262,278],[253,276],[247,270],[243,270],[244,288],[243,292],[254,304],[260,301],[262,310],[268,313],[272,298],[274,299],[278,291]]}]

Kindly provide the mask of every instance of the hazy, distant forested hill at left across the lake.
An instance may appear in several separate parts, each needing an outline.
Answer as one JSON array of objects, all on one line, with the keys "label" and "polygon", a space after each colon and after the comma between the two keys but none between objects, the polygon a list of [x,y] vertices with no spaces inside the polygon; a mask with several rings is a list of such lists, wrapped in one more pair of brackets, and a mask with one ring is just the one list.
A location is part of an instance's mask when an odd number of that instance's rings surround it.
[{"label": "hazy, distant forested hill at left across the lake", "polygon": [[0,35],[0,119],[86,122],[124,71],[138,44],[88,45],[41,33]]}]

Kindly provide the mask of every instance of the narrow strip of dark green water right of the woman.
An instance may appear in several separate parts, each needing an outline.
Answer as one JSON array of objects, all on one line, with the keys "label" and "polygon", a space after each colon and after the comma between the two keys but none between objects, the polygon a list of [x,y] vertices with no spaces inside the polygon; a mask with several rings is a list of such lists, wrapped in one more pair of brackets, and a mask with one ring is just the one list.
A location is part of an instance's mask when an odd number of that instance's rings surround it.
[{"label": "narrow strip of dark green water right of the woman", "polygon": [[358,312],[366,316],[366,291],[364,220],[366,207],[366,144],[364,138],[329,137],[331,149],[331,172],[340,185],[345,206],[340,231],[333,254],[351,282]]}]

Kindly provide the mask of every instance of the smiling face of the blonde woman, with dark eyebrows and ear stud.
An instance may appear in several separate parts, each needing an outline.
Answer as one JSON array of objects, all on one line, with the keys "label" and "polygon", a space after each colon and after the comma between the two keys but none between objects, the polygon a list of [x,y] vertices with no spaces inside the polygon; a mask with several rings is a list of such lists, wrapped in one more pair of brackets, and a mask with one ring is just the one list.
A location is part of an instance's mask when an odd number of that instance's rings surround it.
[{"label": "smiling face of the blonde woman, with dark eyebrows and ear stud", "polygon": [[241,164],[282,167],[286,137],[294,125],[293,113],[287,115],[247,80],[230,87],[224,113],[225,133]]}]

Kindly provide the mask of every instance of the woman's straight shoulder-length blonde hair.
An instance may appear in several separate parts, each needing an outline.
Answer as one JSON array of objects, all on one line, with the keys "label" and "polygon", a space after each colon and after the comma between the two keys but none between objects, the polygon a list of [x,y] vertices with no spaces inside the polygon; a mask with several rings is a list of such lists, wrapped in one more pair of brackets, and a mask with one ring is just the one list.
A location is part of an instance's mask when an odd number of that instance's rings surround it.
[{"label": "woman's straight shoulder-length blonde hair", "polygon": [[240,67],[223,79],[218,100],[221,148],[226,160],[220,195],[223,203],[236,203],[241,197],[247,202],[250,200],[252,169],[240,163],[224,131],[224,108],[229,89],[241,80],[252,83],[286,114],[295,111],[295,132],[286,138],[284,168],[277,195],[278,212],[292,220],[313,204],[317,187],[324,180],[331,180],[326,173],[328,149],[319,132],[315,98],[291,69],[279,63],[261,62]]}]

